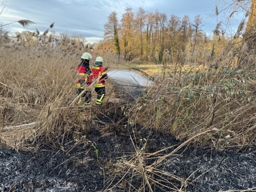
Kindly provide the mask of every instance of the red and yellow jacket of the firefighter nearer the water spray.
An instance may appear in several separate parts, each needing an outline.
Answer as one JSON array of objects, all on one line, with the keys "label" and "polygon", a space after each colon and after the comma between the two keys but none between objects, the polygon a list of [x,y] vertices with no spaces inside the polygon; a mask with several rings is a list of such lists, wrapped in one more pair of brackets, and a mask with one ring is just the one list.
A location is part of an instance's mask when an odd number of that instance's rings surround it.
[{"label": "red and yellow jacket of the firefighter nearer the water spray", "polygon": [[90,82],[98,79],[98,81],[95,84],[95,87],[106,86],[106,82],[105,82],[106,78],[108,78],[108,74],[106,73],[105,68],[102,65],[92,67],[92,72],[90,74]]}]

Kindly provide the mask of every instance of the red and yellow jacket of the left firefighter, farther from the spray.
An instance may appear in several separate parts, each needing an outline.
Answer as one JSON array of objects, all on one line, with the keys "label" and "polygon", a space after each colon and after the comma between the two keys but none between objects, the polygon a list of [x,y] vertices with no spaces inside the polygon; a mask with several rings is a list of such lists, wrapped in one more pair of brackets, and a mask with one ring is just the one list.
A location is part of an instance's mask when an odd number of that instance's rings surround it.
[{"label": "red and yellow jacket of the left firefighter, farther from the spray", "polygon": [[86,62],[85,60],[82,61],[78,66],[77,66],[77,82],[76,82],[76,87],[79,89],[84,89],[83,86],[88,86],[90,85],[90,67],[89,63]]}]

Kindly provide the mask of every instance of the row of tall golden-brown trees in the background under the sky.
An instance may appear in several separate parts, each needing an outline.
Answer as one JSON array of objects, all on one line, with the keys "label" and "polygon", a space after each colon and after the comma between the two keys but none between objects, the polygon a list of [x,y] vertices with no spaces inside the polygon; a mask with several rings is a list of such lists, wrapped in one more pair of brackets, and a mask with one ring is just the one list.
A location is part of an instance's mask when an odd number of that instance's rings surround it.
[{"label": "row of tall golden-brown trees in the background under the sky", "polygon": [[[126,8],[120,20],[116,11],[109,14],[99,46],[104,47],[102,51],[114,52],[125,60],[184,63],[188,55],[192,59],[202,54],[202,46],[209,42],[202,26],[200,15],[190,21],[187,15],[180,18],[172,14],[168,18],[158,10],[146,12],[139,8],[133,12],[132,8]],[[211,48],[208,50],[211,53]]]}]

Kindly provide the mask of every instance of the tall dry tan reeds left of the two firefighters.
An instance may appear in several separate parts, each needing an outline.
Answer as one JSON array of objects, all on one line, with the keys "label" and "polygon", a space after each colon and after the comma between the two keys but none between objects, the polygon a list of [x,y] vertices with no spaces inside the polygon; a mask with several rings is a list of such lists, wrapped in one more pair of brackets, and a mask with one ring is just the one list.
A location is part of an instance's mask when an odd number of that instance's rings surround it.
[{"label": "tall dry tan reeds left of the two firefighters", "polygon": [[[42,43],[0,46],[2,142],[14,148],[25,140],[63,143],[73,128],[83,126],[79,114],[84,106],[69,105],[77,96],[76,67],[85,51]],[[98,55],[92,56],[91,66]],[[93,87],[90,89],[94,94]],[[88,116],[90,113],[88,110]],[[33,126],[12,128],[32,122]]]}]

